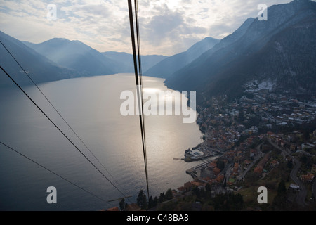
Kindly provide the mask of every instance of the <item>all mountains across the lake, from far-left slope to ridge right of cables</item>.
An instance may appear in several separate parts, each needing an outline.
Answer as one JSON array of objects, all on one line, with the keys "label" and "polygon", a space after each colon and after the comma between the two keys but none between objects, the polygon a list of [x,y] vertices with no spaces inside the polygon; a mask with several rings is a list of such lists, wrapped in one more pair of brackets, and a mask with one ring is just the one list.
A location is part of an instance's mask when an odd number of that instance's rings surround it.
[{"label": "all mountains across the lake, from far-left slope to ridge right of cables", "polygon": [[[40,44],[19,41],[3,32],[0,40],[13,53],[18,62],[36,82],[51,82],[58,79],[69,79],[83,76],[110,75],[115,73],[134,72],[133,55],[124,52],[107,51],[100,53],[81,41],[70,41],[53,38]],[[175,56],[141,56],[142,70],[145,75],[168,77],[176,70],[211,49],[218,39],[206,37],[191,46],[187,51]],[[2,47],[0,62],[6,65],[8,72],[20,70],[13,58]],[[17,79],[29,83],[25,76]]]}]

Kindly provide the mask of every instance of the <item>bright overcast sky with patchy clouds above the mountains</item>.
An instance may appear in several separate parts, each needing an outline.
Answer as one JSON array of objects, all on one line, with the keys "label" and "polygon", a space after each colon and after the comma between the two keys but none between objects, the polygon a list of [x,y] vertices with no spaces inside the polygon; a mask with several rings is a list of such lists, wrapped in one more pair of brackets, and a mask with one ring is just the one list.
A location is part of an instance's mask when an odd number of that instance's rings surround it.
[{"label": "bright overcast sky with patchy clouds above the mountains", "polygon": [[[258,15],[258,4],[291,0],[139,0],[142,54],[171,56],[192,44],[234,32]],[[46,17],[57,6],[57,20]],[[0,30],[21,41],[79,40],[103,51],[131,53],[127,0],[0,0]]]}]

